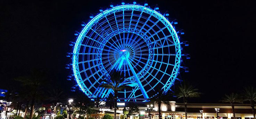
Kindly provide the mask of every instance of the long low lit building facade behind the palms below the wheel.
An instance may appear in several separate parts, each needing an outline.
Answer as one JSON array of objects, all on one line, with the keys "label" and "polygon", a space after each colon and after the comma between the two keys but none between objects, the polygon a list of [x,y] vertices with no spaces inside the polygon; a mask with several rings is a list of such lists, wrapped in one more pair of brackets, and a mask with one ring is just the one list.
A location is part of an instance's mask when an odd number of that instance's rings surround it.
[{"label": "long low lit building facade behind the palms below the wheel", "polygon": [[[127,102],[128,103],[128,102]],[[150,119],[147,106],[144,102],[134,102],[138,105],[140,112],[134,113],[130,119]],[[126,103],[125,103],[126,104]],[[123,115],[125,106],[118,106],[117,116]],[[221,119],[234,119],[230,104],[188,104],[188,119],[217,119],[215,108],[219,108],[218,116]],[[99,108],[100,110],[100,108]],[[102,110],[102,109],[101,109]],[[203,110],[203,113],[200,113]],[[114,112],[110,110],[109,112]],[[235,104],[235,114],[237,119],[253,119],[250,104]],[[106,112],[105,112],[106,113]],[[171,101],[170,105],[161,104],[162,119],[185,119],[184,104]],[[102,115],[102,114],[101,114]],[[96,118],[97,119],[97,118]],[[100,119],[100,118],[99,118]],[[153,104],[151,119],[159,119],[158,104]]]}]

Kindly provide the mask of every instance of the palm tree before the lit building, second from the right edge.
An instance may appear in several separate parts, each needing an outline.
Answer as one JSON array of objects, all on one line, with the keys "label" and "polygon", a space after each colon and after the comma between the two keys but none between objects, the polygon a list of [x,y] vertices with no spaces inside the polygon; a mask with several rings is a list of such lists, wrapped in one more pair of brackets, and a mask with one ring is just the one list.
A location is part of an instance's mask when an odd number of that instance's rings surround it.
[{"label": "palm tree before the lit building, second from the right edge", "polygon": [[234,103],[240,103],[241,99],[238,97],[237,93],[231,93],[230,95],[225,94],[225,97],[223,97],[222,100],[220,100],[221,102],[228,102],[231,104],[232,110],[233,110],[233,116],[234,119],[236,119],[236,115],[235,115],[235,107],[234,107]]}]

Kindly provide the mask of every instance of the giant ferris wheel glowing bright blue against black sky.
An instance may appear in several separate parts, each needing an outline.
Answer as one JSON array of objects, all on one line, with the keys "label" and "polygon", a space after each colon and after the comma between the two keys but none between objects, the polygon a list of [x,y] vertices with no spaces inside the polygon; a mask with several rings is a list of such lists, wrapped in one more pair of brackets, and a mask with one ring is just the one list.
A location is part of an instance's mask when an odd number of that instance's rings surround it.
[{"label": "giant ferris wheel glowing bright blue against black sky", "polygon": [[90,16],[90,22],[75,34],[74,51],[69,53],[72,76],[90,98],[113,93],[99,86],[112,70],[121,71],[127,77],[124,83],[132,86],[118,92],[118,98],[148,99],[159,89],[171,90],[181,67],[183,43],[172,26],[176,22],[165,18],[169,14],[146,6],[111,5]]}]

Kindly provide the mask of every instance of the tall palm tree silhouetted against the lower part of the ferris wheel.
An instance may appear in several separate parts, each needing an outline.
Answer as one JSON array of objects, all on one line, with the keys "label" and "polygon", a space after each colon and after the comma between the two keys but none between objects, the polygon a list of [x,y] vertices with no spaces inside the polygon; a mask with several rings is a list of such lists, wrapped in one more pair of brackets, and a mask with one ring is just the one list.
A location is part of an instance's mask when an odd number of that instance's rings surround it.
[{"label": "tall palm tree silhouetted against the lower part of the ferris wheel", "polygon": [[117,94],[118,91],[131,88],[128,86],[128,83],[125,84],[124,80],[125,77],[121,74],[120,71],[113,70],[110,72],[109,76],[107,77],[108,80],[104,80],[100,87],[106,89],[112,89],[114,91],[114,119],[116,119],[116,110],[117,110]]}]

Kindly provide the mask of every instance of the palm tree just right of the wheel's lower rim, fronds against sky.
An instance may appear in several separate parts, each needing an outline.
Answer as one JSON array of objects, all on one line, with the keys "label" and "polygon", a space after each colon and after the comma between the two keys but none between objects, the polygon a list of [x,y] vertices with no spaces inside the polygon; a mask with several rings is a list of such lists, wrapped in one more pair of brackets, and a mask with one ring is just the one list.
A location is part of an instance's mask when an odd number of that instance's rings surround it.
[{"label": "palm tree just right of the wheel's lower rim, fronds against sky", "polygon": [[179,88],[175,91],[177,98],[183,98],[186,119],[188,119],[188,115],[187,115],[188,98],[199,97],[201,93],[197,91],[198,89],[195,89],[192,85],[188,86],[187,84],[183,84],[179,86]]}]

